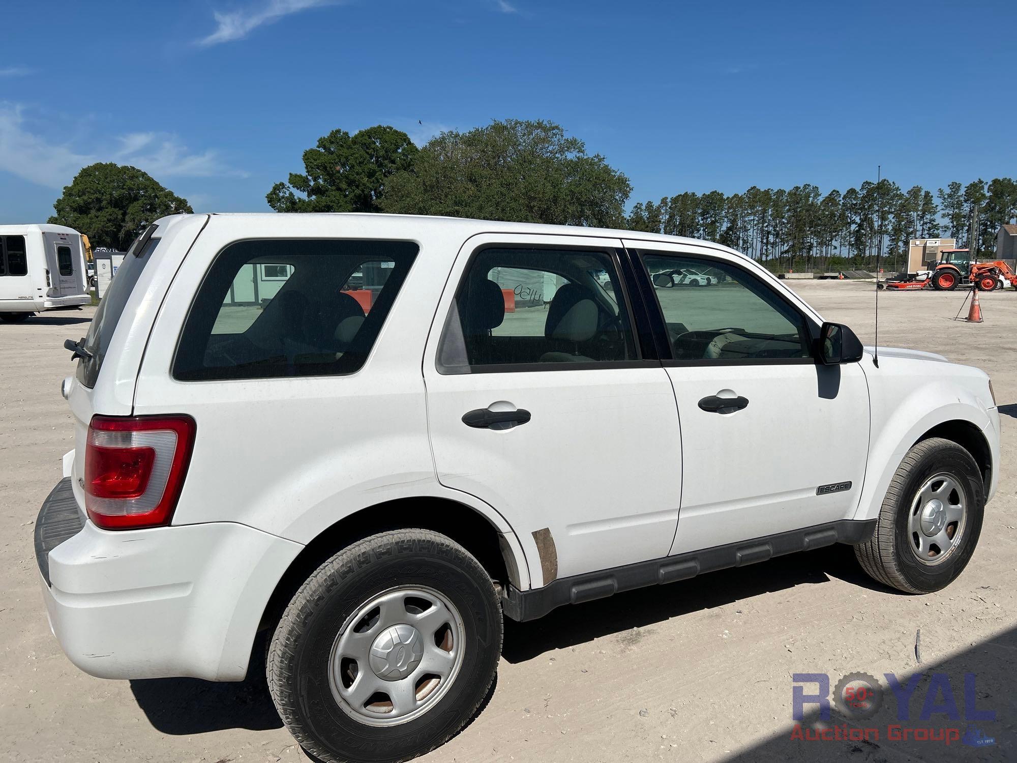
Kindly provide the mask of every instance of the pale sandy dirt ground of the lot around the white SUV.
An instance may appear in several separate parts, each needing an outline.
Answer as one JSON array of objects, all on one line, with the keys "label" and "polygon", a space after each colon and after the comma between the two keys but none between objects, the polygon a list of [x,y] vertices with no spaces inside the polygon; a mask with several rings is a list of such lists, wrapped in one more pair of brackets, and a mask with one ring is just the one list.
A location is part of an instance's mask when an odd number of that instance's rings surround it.
[{"label": "pale sandy dirt ground of the lot around the white SUV", "polygon": [[[871,284],[792,282],[828,319],[873,341]],[[1017,294],[982,297],[985,321],[951,320],[961,293],[884,293],[880,343],[988,370],[1003,412],[1003,472],[981,540],[946,590],[906,596],[823,548],[507,623],[486,707],[431,761],[1014,760],[1017,757]],[[263,680],[111,682],[74,668],[50,634],[33,524],[60,478],[71,421],[61,347],[93,310],[0,325],[0,758],[15,761],[297,761]],[[920,631],[918,662],[916,632]],[[897,720],[887,694],[868,741],[791,739],[792,676],[919,674]],[[919,720],[929,690],[961,718]],[[995,744],[888,739],[888,725],[966,730],[964,674]],[[884,681],[884,686],[886,682]],[[802,685],[813,693],[815,685]],[[806,721],[816,720],[810,707]],[[941,707],[940,710],[943,710]],[[840,725],[835,712],[830,733]],[[967,715],[970,718],[970,714]],[[806,725],[812,723],[806,722]]]}]

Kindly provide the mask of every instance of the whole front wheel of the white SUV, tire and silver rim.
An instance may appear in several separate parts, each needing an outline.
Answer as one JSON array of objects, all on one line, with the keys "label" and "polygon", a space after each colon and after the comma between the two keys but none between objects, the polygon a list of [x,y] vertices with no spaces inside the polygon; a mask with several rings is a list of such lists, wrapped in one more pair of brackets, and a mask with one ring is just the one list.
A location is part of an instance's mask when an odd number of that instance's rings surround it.
[{"label": "whole front wheel of the white SUV, tire and silver rim", "polygon": [[854,547],[862,569],[907,593],[945,588],[963,572],[981,533],[984,486],[965,449],[923,439],[890,481],[873,536]]}]

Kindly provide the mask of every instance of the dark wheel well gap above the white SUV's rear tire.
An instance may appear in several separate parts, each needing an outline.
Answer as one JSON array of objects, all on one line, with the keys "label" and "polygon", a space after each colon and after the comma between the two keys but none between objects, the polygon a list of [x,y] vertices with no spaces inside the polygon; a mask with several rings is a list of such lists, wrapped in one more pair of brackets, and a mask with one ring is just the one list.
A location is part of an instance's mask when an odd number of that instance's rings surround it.
[{"label": "dark wheel well gap above the white SUV's rear tire", "polygon": [[411,527],[448,536],[472,553],[495,583],[519,585],[512,550],[497,528],[481,514],[445,498],[386,501],[344,517],[304,546],[276,585],[261,615],[259,630],[276,625],[304,581],[337,551],[385,530]]}]

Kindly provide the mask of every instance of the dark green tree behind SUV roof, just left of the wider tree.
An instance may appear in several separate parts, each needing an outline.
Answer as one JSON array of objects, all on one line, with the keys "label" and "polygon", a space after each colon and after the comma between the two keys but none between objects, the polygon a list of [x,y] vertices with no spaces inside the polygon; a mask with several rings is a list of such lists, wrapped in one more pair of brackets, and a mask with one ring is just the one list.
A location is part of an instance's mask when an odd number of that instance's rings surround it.
[{"label": "dark green tree behind SUV roof, just left of the wider tree", "polygon": [[304,152],[304,174],[290,173],[265,198],[276,212],[380,212],[390,178],[416,156],[410,136],[395,127],[333,130]]}]

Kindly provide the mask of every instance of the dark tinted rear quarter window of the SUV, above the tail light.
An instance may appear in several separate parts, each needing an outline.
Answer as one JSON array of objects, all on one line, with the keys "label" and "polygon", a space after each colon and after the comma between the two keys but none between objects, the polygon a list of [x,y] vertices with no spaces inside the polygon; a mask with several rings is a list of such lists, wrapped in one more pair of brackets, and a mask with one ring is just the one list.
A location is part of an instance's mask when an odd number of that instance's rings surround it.
[{"label": "dark tinted rear quarter window of the SUV, above the tail light", "polygon": [[191,382],[356,371],[416,253],[405,241],[231,244],[194,297],[173,375]]}]

